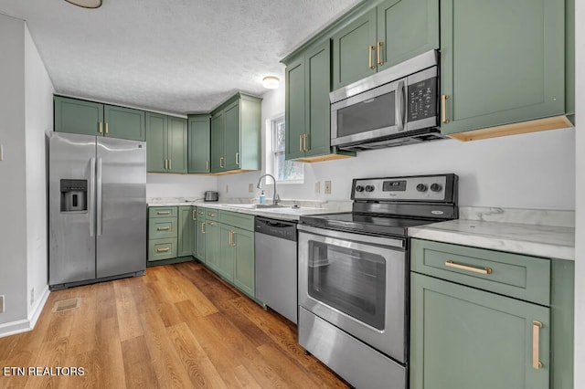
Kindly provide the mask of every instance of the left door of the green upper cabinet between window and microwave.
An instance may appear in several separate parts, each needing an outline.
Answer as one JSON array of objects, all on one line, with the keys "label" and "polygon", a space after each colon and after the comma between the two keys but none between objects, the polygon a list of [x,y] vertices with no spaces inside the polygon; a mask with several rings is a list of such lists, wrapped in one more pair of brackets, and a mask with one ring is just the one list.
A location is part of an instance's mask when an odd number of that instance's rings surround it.
[{"label": "left door of the green upper cabinet between window and microwave", "polygon": [[[293,160],[304,157],[303,134],[305,128],[304,102],[304,57],[294,60],[286,67],[285,122],[286,146],[284,157]],[[327,98],[327,102],[329,98]]]}]

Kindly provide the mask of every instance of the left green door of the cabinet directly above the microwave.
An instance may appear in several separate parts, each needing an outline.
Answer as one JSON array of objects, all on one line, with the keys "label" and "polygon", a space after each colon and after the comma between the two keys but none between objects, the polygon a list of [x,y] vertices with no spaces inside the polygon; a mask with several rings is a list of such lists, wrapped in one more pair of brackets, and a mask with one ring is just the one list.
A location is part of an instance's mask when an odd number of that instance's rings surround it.
[{"label": "left green door of the cabinet directly above the microwave", "polygon": [[376,73],[376,9],[337,32],[333,42],[333,89]]}]

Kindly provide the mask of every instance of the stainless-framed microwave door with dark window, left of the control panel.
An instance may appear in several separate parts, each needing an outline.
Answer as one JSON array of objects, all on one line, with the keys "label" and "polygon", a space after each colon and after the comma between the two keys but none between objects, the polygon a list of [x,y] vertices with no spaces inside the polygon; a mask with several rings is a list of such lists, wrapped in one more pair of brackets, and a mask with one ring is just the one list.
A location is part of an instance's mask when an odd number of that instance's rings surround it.
[{"label": "stainless-framed microwave door with dark window, left of the control panel", "polygon": [[331,144],[382,138],[404,129],[404,80],[384,84],[331,105]]}]

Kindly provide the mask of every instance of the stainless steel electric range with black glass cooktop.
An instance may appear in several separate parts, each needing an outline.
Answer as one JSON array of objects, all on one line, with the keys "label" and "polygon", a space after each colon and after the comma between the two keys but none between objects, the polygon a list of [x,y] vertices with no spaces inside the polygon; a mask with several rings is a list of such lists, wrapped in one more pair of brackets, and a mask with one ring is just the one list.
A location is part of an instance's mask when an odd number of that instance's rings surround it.
[{"label": "stainless steel electric range with black glass cooktop", "polygon": [[299,343],[356,387],[408,387],[408,228],[458,217],[458,177],[355,179],[351,213],[301,216]]}]

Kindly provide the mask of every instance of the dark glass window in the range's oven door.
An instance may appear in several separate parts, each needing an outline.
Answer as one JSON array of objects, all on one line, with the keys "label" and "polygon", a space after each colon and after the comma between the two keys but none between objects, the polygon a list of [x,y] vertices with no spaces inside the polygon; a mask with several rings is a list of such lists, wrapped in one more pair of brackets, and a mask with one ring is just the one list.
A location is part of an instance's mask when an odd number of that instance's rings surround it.
[{"label": "dark glass window in the range's oven door", "polygon": [[386,261],[378,254],[309,241],[309,296],[384,329]]}]

